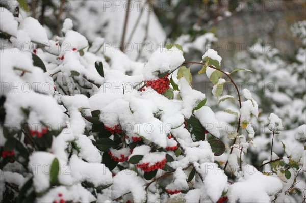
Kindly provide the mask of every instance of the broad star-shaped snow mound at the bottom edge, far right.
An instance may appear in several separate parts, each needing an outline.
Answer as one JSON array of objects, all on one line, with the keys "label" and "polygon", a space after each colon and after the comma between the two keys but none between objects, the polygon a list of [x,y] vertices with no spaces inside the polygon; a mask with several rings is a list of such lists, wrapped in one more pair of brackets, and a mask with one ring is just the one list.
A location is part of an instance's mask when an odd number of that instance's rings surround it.
[{"label": "broad star-shaped snow mound at the bottom edge, far right", "polygon": [[228,187],[230,202],[270,202],[270,197],[282,189],[282,182],[276,177],[266,176],[254,166],[243,167],[244,180]]}]

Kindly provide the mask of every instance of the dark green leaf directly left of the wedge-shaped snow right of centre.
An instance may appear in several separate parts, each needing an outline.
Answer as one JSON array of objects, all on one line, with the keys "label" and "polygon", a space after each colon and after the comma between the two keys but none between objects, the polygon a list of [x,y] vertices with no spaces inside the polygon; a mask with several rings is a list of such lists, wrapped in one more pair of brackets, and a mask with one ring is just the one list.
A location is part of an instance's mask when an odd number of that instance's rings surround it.
[{"label": "dark green leaf directly left of the wedge-shaped snow right of centre", "polygon": [[195,141],[205,140],[205,129],[196,117],[191,115],[189,119],[186,119],[186,123],[190,134],[194,134]]}]

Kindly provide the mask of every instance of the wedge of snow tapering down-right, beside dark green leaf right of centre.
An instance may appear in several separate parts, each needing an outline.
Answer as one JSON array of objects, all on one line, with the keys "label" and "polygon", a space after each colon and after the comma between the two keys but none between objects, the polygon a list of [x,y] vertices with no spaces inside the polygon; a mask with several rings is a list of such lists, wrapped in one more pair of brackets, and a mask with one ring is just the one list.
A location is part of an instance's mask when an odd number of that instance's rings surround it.
[{"label": "wedge of snow tapering down-right, beside dark green leaf right of centre", "polygon": [[219,121],[215,117],[215,113],[208,106],[203,106],[202,108],[194,112],[195,116],[199,119],[203,127],[216,137],[220,137],[219,133]]}]

